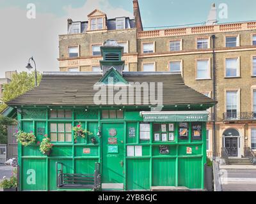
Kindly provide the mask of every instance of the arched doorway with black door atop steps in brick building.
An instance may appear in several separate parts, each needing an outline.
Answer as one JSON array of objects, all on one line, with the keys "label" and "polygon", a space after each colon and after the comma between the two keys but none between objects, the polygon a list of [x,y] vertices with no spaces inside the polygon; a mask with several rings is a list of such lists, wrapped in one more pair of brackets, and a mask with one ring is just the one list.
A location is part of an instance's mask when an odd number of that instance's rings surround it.
[{"label": "arched doorway with black door atop steps in brick building", "polygon": [[228,156],[230,157],[237,157],[238,156],[238,149],[240,146],[240,134],[234,128],[226,129],[223,133],[223,145],[228,150]]}]

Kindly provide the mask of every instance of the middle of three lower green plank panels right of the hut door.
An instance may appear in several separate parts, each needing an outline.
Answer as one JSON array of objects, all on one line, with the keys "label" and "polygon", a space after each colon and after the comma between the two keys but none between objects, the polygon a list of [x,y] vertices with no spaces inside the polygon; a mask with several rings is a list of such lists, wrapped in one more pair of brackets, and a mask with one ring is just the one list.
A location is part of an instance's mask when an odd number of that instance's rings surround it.
[{"label": "middle of three lower green plank panels right of the hut door", "polygon": [[153,186],[175,186],[176,159],[153,159]]}]

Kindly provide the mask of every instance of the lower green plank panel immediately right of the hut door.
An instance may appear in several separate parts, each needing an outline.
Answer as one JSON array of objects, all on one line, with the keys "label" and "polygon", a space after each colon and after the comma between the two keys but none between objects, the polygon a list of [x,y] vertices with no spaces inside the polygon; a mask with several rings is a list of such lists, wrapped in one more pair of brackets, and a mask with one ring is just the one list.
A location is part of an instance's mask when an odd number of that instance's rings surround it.
[{"label": "lower green plank panel immediately right of the hut door", "polygon": [[150,159],[127,159],[127,190],[150,189]]}]

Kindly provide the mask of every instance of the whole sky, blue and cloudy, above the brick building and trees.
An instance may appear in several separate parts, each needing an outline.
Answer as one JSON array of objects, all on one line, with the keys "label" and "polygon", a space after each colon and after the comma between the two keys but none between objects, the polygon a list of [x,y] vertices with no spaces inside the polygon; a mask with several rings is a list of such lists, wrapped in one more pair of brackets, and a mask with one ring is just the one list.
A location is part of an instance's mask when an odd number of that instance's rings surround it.
[{"label": "whole sky, blue and cloudy, above the brick building and trees", "polygon": [[[28,4],[35,4],[35,19],[29,19]],[[139,0],[145,29],[161,26],[202,24],[211,4],[217,13],[227,6],[220,23],[256,20],[255,0]],[[132,0],[0,0],[0,78],[5,71],[27,71],[33,56],[38,71],[58,71],[58,35],[67,34],[67,18],[88,20],[95,8],[108,18],[133,18]]]}]

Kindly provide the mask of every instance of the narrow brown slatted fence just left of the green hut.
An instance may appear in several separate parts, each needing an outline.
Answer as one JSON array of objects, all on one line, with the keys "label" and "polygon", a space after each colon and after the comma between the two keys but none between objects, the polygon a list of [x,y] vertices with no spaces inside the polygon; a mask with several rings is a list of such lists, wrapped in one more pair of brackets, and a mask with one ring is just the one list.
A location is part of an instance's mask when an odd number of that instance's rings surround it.
[{"label": "narrow brown slatted fence just left of the green hut", "polygon": [[18,144],[14,135],[18,128],[18,126],[8,126],[7,159],[18,157]]}]

